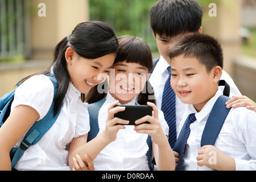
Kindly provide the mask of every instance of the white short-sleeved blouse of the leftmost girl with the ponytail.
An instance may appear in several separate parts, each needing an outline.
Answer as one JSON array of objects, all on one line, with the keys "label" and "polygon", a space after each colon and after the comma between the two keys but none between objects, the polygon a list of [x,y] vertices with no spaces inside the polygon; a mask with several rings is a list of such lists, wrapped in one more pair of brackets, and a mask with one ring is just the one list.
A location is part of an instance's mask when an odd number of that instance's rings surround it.
[{"label": "white short-sleeved blouse of the leftmost girl with the ponytail", "polygon": [[[42,119],[51,107],[53,90],[52,81],[47,76],[33,76],[16,89],[11,111],[16,106],[28,105],[38,111],[39,119]],[[69,143],[90,130],[88,103],[82,102],[80,96],[79,90],[70,82],[59,117],[39,142],[24,152],[15,169],[70,170]],[[19,147],[23,138],[24,136],[15,147]]]}]

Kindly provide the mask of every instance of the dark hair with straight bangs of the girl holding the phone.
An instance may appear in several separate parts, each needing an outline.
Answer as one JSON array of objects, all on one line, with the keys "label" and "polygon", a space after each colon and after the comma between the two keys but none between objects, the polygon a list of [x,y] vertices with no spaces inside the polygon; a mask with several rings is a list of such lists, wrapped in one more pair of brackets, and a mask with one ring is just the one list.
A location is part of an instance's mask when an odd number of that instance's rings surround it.
[{"label": "dark hair with straight bangs of the girl holding the phone", "polygon": [[[122,61],[126,63],[138,63],[148,69],[148,72],[153,68],[152,53],[147,43],[142,38],[131,35],[123,35],[117,38],[119,49],[117,57],[115,58],[114,64]],[[97,87],[102,86],[101,90],[105,90],[104,93],[98,92]],[[102,98],[106,97],[108,93],[108,82],[107,80],[98,86],[90,89],[86,102],[89,104],[97,102]],[[141,105],[146,105],[147,101],[155,104],[154,90],[149,81],[146,81],[144,88],[141,93],[137,96],[137,102]]]}]

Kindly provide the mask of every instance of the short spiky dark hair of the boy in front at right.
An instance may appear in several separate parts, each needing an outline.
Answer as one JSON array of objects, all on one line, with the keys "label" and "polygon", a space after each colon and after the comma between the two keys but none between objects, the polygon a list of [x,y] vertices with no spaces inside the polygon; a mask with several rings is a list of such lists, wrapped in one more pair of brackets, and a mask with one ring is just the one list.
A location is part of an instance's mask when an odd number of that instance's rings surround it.
[{"label": "short spiky dark hair of the boy in front at right", "polygon": [[184,57],[196,57],[210,72],[213,67],[223,68],[223,53],[220,43],[210,35],[189,33],[177,40],[168,50],[171,61],[183,55]]}]

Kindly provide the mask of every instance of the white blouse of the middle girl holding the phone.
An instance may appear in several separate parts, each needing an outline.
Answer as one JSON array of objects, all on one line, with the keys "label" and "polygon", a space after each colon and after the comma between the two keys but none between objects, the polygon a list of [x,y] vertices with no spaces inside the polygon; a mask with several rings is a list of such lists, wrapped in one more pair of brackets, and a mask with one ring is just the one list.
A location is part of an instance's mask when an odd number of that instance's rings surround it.
[{"label": "white blouse of the middle girl holding the phone", "polygon": [[[102,133],[106,127],[106,118],[108,117],[108,107],[115,98],[108,93],[106,101],[101,106],[98,113],[99,133]],[[135,99],[126,105],[135,105]],[[164,120],[163,112],[159,110],[159,121],[162,129],[168,135],[168,125]],[[134,126],[126,125],[126,129],[119,130],[117,139],[111,142],[94,159],[94,168],[96,171],[148,171],[147,160],[147,134],[139,134],[134,131]]]}]

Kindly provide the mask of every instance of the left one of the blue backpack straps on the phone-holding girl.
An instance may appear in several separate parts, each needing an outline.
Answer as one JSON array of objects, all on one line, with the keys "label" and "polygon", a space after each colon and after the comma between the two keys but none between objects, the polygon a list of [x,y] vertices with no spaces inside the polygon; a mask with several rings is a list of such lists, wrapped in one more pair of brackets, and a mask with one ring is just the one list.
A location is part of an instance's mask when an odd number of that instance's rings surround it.
[{"label": "left one of the blue backpack straps on the phone-holding girl", "polygon": [[95,138],[98,134],[98,111],[100,110],[101,106],[106,101],[106,98],[94,102],[93,104],[89,104],[88,112],[90,117],[90,131],[88,133],[87,142]]}]

